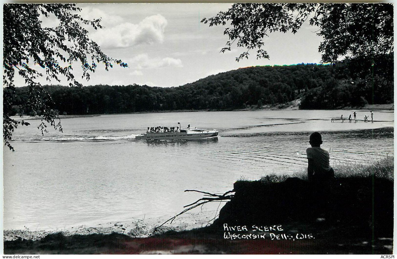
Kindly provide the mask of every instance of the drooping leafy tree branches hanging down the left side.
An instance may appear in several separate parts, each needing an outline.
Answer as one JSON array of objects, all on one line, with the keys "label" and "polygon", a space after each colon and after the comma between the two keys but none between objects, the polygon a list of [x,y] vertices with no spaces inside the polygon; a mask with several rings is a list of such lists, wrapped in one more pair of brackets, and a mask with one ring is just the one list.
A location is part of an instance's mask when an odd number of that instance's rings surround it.
[{"label": "drooping leafy tree branches hanging down the left side", "polygon": [[[127,67],[121,60],[105,55],[100,46],[88,37],[87,27],[100,29],[100,19],[83,19],[75,4],[4,4],[3,6],[3,140],[10,150],[12,133],[19,125],[29,125],[11,118],[15,96],[15,72],[29,85],[29,98],[23,110],[31,110],[42,121],[38,129],[46,132],[46,123],[62,132],[58,113],[50,108],[50,94],[38,79],[60,82],[66,77],[69,86],[82,85],[75,79],[73,64],[81,64],[82,79],[89,80],[98,64],[105,70],[117,64]],[[42,19],[55,18],[56,26],[44,27]],[[40,72],[41,69],[43,72]],[[56,122],[58,120],[58,122]]]}]

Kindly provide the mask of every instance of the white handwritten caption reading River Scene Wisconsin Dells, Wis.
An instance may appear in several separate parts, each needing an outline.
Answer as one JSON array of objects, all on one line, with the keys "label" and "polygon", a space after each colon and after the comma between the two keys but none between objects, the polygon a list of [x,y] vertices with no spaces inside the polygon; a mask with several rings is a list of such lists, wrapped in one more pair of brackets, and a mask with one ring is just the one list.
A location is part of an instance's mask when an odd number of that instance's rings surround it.
[{"label": "white handwritten caption reading River Scene Wisconsin Dells, Wis", "polygon": [[313,234],[284,233],[282,225],[272,226],[229,226],[223,224],[224,239],[269,239],[269,240],[302,240],[314,239]]}]

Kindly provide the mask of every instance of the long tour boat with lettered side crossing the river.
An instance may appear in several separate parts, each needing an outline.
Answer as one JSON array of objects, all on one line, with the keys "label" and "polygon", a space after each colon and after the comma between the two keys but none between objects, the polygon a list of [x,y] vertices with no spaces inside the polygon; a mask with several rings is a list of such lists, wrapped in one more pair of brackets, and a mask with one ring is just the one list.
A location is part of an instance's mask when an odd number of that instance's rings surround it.
[{"label": "long tour boat with lettered side crossing the river", "polygon": [[186,129],[181,129],[179,132],[146,132],[135,136],[135,139],[140,140],[167,140],[167,139],[204,139],[204,138],[215,138],[218,137],[218,131],[216,130],[206,130],[197,129],[196,127],[189,127]]}]

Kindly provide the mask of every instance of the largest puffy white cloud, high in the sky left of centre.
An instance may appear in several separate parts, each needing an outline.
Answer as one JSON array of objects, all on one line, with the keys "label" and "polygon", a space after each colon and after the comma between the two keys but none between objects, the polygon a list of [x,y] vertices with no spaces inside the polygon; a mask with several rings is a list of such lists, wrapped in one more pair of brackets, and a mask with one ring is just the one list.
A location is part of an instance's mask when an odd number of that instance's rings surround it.
[{"label": "largest puffy white cloud, high in the sky left of centre", "polygon": [[162,43],[166,26],[166,18],[157,14],[146,17],[138,24],[125,22],[98,29],[91,34],[91,38],[104,48]]}]

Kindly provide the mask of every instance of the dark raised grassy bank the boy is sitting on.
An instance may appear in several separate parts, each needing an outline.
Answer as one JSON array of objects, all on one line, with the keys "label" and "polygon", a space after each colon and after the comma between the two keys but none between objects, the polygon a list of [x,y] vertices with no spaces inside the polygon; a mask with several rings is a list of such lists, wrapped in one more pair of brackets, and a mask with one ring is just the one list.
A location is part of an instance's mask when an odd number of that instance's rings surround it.
[{"label": "dark raised grassy bank the boy is sitting on", "polygon": [[[268,175],[259,181],[237,181],[234,191],[214,227],[280,224],[286,235],[309,232],[316,238],[310,240],[314,247],[328,240],[324,253],[343,253],[357,245],[362,247],[361,253],[391,253],[391,156],[366,165],[338,164],[334,181],[327,184],[310,183],[306,172],[299,172],[293,177]],[[385,240],[389,242],[385,244]],[[341,245],[339,250],[336,245]]]}]

